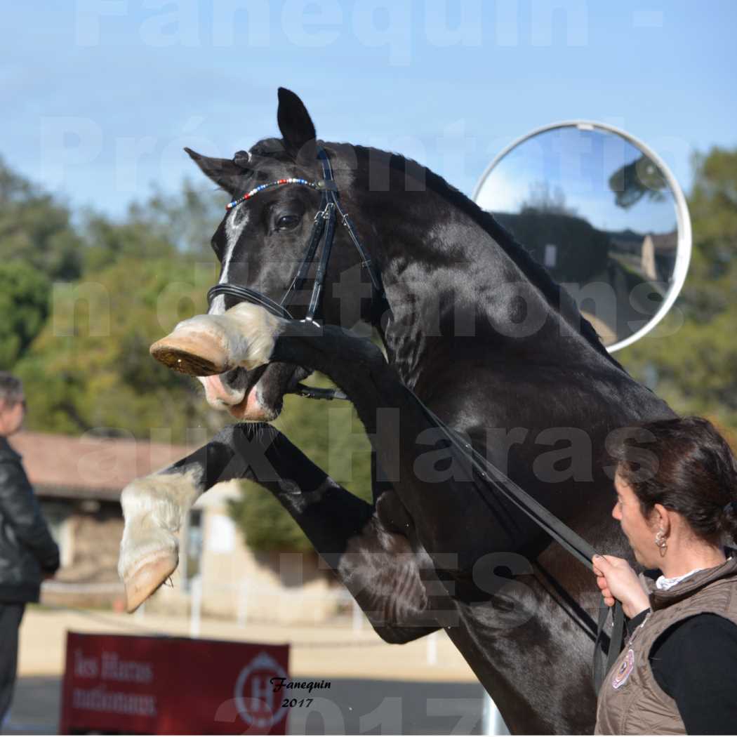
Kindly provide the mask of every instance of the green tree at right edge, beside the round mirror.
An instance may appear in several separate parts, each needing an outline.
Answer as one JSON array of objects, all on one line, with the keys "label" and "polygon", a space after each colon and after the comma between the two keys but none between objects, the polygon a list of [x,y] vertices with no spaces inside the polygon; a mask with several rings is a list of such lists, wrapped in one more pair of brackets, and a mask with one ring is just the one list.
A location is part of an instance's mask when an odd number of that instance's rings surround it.
[{"label": "green tree at right edge, beside the round mirror", "polygon": [[679,413],[737,428],[737,150],[694,157],[694,250],[671,315],[618,357]]}]

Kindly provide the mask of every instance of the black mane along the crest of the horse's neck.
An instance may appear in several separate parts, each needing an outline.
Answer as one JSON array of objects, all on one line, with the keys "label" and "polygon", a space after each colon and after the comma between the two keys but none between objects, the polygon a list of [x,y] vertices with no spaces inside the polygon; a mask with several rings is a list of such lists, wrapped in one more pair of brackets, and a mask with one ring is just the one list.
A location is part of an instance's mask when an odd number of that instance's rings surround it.
[{"label": "black mane along the crest of the horse's neck", "polygon": [[[420,175],[424,177],[425,186],[430,192],[434,192],[441,198],[446,200],[448,203],[453,205],[455,208],[466,214],[473,220],[476,225],[483,228],[483,231],[488,233],[500,248],[509,256],[509,258],[517,265],[518,268],[527,276],[527,278],[534,284],[545,297],[548,304],[559,312],[563,319],[568,322],[574,329],[579,329],[579,326],[573,325],[570,322],[569,315],[575,315],[579,319],[581,335],[590,343],[596,352],[606,357],[611,363],[624,371],[621,363],[618,362],[612,354],[602,345],[601,339],[598,333],[593,328],[593,325],[581,315],[579,306],[573,297],[570,296],[567,291],[561,287],[550,275],[550,272],[542,265],[535,261],[523,245],[515,240],[514,235],[511,234],[507,228],[501,223],[497,222],[491,212],[481,209],[471,198],[464,195],[459,189],[452,184],[449,184],[439,174],[433,172],[433,170],[419,164],[411,158],[406,158],[399,153],[389,153],[379,149],[364,147],[364,146],[353,146],[357,152],[363,154],[368,159],[371,159],[376,155],[388,156],[388,164],[390,170],[397,172],[402,176],[408,174],[411,176]],[[404,181],[402,179],[402,181]]]}]

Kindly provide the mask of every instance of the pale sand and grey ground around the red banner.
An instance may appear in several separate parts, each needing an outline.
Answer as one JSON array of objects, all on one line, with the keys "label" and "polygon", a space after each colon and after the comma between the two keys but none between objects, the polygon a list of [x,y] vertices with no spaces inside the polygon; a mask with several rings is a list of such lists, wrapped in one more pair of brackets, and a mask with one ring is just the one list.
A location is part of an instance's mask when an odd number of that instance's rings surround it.
[{"label": "pale sand and grey ground around the red banner", "polygon": [[[126,635],[191,634],[187,618],[28,607],[21,624],[18,684],[3,733],[56,733],[66,632],[70,630]],[[289,643],[291,675],[340,680],[336,682],[335,698],[341,704],[353,702],[356,709],[336,713],[335,724],[290,721],[291,733],[366,731],[360,719],[366,719],[386,696],[397,695],[403,711],[391,730],[395,733],[442,734],[461,727],[458,733],[469,734],[481,729],[483,689],[444,632],[405,645],[388,645],[366,621],[354,631],[351,621],[344,619],[321,626],[239,626],[231,621],[203,619],[199,635],[207,639]],[[458,715],[443,722],[437,713],[438,704],[441,710],[446,708],[442,705],[450,704],[449,714],[465,712],[463,726],[457,723]]]}]

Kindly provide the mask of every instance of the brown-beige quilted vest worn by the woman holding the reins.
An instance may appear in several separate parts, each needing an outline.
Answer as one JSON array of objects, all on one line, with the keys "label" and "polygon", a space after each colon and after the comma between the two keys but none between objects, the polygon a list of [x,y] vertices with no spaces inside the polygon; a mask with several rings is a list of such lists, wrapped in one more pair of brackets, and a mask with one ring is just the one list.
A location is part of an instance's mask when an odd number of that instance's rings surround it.
[{"label": "brown-beige quilted vest worn by the woman holding the reins", "polygon": [[[699,570],[667,591],[650,591],[652,612],[635,629],[598,695],[595,734],[685,735],[676,702],[657,685],[650,649],[676,622],[710,612],[737,624],[737,555],[722,565]],[[693,666],[684,663],[684,667]],[[737,725],[736,725],[737,726]]]}]

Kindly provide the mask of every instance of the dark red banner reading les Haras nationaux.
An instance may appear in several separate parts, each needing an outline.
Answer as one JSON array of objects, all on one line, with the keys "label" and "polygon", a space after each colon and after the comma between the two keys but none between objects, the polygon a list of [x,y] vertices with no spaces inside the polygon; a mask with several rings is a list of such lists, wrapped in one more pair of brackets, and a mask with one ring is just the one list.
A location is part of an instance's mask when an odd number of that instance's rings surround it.
[{"label": "dark red banner reading les Haras nationaux", "polygon": [[68,632],[59,730],[283,735],[288,673],[288,645]]}]

